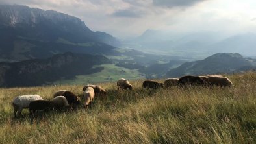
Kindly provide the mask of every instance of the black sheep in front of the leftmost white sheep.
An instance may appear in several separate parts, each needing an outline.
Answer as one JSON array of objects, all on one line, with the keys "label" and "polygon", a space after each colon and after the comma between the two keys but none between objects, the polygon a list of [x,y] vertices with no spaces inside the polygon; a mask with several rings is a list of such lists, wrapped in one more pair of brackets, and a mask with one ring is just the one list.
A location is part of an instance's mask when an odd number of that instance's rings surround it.
[{"label": "black sheep in front of the leftmost white sheep", "polygon": [[29,104],[30,115],[34,116],[37,110],[49,110],[52,108],[51,101],[47,100],[36,100]]}]

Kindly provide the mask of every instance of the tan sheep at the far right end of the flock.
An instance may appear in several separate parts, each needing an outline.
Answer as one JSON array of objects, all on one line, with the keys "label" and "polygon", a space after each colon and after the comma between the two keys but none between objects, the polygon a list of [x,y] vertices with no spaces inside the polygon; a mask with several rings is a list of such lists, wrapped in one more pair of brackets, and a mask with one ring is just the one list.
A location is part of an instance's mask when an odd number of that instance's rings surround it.
[{"label": "tan sheep at the far right end of the flock", "polygon": [[234,86],[234,84],[227,77],[223,77],[220,75],[211,75],[208,77],[208,82],[211,86]]}]

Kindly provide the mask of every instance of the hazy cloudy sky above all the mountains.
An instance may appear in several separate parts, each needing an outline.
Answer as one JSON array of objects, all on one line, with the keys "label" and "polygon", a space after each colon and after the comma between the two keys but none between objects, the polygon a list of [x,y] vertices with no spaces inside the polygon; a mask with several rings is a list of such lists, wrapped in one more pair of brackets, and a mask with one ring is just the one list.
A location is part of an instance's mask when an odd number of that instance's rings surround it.
[{"label": "hazy cloudy sky above all the mountains", "polygon": [[170,32],[256,32],[255,0],[0,0],[57,10],[119,38],[147,29]]}]

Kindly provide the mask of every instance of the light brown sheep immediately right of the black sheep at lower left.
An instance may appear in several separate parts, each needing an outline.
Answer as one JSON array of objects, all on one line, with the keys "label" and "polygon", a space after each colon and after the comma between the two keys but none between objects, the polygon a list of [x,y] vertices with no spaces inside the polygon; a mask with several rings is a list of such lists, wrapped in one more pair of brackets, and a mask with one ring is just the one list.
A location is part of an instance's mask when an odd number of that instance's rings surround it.
[{"label": "light brown sheep immediately right of the black sheep at lower left", "polygon": [[53,108],[62,109],[62,108],[69,108],[70,104],[68,104],[68,100],[64,96],[57,96],[51,100],[51,104]]}]

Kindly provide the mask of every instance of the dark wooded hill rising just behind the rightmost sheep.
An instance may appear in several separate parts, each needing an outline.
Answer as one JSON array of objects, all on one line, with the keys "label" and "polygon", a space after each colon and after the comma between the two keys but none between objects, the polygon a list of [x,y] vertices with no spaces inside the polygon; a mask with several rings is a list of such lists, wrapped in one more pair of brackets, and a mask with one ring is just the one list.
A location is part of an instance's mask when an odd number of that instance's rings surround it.
[{"label": "dark wooded hill rising just behind the rightmost sheep", "polygon": [[252,68],[253,64],[238,53],[217,53],[194,62],[186,62],[171,69],[167,77],[181,77],[183,75],[208,75],[214,73],[233,73],[239,69]]}]

